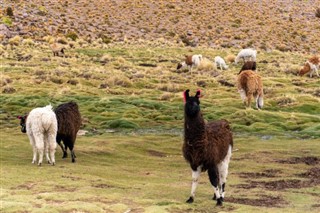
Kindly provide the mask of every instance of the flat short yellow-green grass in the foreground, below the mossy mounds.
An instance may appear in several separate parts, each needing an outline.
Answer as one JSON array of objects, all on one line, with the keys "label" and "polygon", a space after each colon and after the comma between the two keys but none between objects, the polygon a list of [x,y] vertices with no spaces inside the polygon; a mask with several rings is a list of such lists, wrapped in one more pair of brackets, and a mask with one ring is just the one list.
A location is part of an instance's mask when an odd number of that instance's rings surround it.
[{"label": "flat short yellow-green grass in the foreground, below the mossy mounds", "polygon": [[[318,156],[317,140],[273,136],[235,136],[224,206],[215,207],[212,187],[203,174],[195,203],[189,196],[191,172],[181,154],[182,138],[177,134],[128,132],[79,136],[77,162],[61,159],[56,166],[31,164],[28,139],[15,129],[1,131],[1,207],[4,212],[317,212],[310,204],[319,202],[319,185],[268,190],[241,189],[249,181],[301,179],[310,165],[283,164],[292,157]],[[4,140],[6,138],[6,140]],[[14,150],[14,151],[13,151]],[[289,166],[290,165],[290,166]],[[319,165],[319,164],[318,164]],[[242,173],[275,169],[271,178],[243,178]],[[228,202],[229,199],[281,197],[284,204],[259,207]],[[271,202],[269,201],[269,202]]]}]

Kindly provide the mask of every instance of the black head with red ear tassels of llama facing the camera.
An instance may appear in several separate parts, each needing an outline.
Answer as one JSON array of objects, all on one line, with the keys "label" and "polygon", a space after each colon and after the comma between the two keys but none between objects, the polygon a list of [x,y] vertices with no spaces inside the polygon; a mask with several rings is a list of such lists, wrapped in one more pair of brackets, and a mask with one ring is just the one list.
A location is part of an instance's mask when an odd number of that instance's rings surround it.
[{"label": "black head with red ear tassels of llama facing the camera", "polygon": [[183,95],[184,95],[184,101],[185,101],[185,106],[184,110],[187,116],[189,117],[196,117],[198,113],[200,112],[200,90],[197,91],[196,95],[193,97],[190,97],[189,95],[190,90],[186,90]]}]

